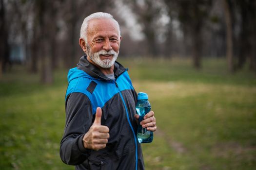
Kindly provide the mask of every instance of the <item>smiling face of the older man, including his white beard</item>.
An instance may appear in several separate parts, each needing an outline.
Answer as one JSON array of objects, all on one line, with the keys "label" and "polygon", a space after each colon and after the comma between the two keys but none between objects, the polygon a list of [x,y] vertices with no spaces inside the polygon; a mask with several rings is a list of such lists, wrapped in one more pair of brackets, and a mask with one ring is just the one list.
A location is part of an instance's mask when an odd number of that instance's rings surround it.
[{"label": "smiling face of the older man, including his white beard", "polygon": [[111,19],[93,19],[87,29],[86,53],[101,68],[111,68],[118,57],[120,38]]}]

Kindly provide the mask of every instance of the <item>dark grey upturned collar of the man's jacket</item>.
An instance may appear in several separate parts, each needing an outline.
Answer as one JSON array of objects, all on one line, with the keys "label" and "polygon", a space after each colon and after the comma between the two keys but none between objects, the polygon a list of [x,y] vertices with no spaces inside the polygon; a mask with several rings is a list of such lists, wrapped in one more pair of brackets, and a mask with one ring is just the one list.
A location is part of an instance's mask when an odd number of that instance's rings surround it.
[{"label": "dark grey upturned collar of the man's jacket", "polygon": [[[93,65],[92,63],[90,63],[87,60],[87,56],[83,55],[80,60],[79,63],[77,65],[78,69],[85,71],[87,74],[89,74],[90,76],[97,78],[97,79],[102,79],[102,80],[106,80],[109,81],[111,79],[107,78],[105,76],[105,74],[103,74],[99,68],[97,68],[95,65]],[[117,79],[118,76],[120,76],[124,71],[128,70],[127,68],[124,68],[120,63],[118,63],[117,61],[114,64],[114,74],[115,74],[115,78]]]}]

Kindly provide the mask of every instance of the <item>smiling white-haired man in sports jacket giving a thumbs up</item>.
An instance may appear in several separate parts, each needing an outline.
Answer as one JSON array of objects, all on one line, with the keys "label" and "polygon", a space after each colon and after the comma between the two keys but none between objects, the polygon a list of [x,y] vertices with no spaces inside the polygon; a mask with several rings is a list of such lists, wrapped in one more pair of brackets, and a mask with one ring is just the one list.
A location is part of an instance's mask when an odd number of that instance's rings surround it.
[{"label": "smiling white-haired man in sports jacket giving a thumbs up", "polygon": [[[86,55],[68,73],[66,125],[60,157],[76,170],[143,170],[136,133],[137,93],[127,69],[116,62],[120,47],[118,22],[94,13],[82,23],[79,44]],[[154,112],[140,122],[156,131]]]}]

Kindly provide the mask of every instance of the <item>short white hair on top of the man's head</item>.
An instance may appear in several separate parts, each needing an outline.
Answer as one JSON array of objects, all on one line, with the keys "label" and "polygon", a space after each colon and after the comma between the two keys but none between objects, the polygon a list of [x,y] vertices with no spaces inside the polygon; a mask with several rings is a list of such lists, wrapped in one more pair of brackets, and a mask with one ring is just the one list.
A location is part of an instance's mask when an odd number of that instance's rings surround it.
[{"label": "short white hair on top of the man's head", "polygon": [[114,21],[114,23],[117,25],[118,36],[120,37],[120,27],[119,27],[118,21],[116,19],[114,19],[114,17],[111,14],[98,12],[98,13],[93,13],[93,14],[89,15],[88,17],[84,18],[84,20],[83,20],[81,30],[80,30],[80,38],[83,38],[86,43],[87,43],[88,25],[89,25],[89,21],[92,19],[112,19]]}]

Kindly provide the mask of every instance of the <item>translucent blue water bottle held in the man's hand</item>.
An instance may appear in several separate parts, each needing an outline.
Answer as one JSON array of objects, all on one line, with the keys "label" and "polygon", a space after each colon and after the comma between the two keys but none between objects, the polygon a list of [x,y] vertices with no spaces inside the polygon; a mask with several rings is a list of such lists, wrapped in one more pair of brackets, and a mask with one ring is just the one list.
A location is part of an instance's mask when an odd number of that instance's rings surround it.
[{"label": "translucent blue water bottle held in the man's hand", "polygon": [[139,115],[137,138],[139,143],[150,143],[153,140],[153,132],[147,131],[146,128],[142,128],[140,121],[150,111],[151,105],[148,102],[148,95],[146,93],[138,93],[138,101],[136,103],[136,111]]}]

